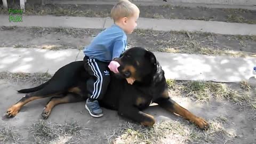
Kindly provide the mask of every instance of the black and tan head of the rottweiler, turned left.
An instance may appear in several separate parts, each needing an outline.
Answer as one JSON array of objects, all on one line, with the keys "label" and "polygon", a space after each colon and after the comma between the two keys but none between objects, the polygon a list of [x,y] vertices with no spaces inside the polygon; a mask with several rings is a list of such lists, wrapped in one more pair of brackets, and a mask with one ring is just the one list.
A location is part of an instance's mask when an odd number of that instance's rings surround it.
[{"label": "black and tan head of the rottweiler, turned left", "polygon": [[132,47],[116,58],[120,66],[119,74],[124,78],[133,77],[136,81],[154,75],[157,70],[157,60],[153,52],[142,47]]}]

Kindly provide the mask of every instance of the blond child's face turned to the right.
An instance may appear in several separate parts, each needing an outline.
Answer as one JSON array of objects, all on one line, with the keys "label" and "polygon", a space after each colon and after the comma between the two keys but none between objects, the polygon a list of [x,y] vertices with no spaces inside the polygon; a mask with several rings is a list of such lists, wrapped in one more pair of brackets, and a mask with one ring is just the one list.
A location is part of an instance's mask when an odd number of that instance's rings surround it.
[{"label": "blond child's face turned to the right", "polygon": [[135,13],[132,17],[129,17],[125,21],[124,31],[127,34],[131,34],[132,31],[137,27],[137,20],[139,18],[139,12]]}]

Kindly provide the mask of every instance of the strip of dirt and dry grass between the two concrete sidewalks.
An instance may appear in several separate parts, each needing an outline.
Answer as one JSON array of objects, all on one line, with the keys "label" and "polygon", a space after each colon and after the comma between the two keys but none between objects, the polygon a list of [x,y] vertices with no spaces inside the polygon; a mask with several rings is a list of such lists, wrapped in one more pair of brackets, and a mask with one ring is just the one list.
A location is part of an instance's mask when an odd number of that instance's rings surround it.
[{"label": "strip of dirt and dry grass between the two concrete sidewalks", "polygon": [[[2,47],[35,47],[58,50],[83,49],[101,30],[1,27],[0,31]],[[127,37],[129,47],[142,46],[150,51],[256,57],[255,36],[137,29]]]}]

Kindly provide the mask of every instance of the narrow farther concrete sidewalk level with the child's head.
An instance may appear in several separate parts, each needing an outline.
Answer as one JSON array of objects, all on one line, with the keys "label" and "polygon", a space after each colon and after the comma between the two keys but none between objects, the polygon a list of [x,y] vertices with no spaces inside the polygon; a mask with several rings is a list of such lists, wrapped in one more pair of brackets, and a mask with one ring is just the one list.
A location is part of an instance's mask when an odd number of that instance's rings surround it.
[{"label": "narrow farther concrete sidewalk level with the child's head", "polygon": [[[66,27],[103,29],[113,24],[110,18],[55,17],[23,15],[22,22],[9,22],[9,15],[0,15],[0,26]],[[219,21],[139,18],[138,28],[153,30],[186,30],[227,35],[256,35],[256,25]]]}]

